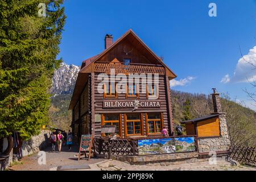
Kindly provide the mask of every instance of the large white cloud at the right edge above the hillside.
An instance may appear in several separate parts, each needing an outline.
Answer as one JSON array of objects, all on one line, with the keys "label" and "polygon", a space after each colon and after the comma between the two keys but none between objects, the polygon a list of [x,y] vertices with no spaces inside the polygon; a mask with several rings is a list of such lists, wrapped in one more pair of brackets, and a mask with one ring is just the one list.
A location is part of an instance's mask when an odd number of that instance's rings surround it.
[{"label": "large white cloud at the right edge above the hillside", "polygon": [[[226,76],[225,76],[226,77]],[[225,82],[253,82],[256,81],[256,46],[250,49],[249,53],[238,60],[234,75]]]}]

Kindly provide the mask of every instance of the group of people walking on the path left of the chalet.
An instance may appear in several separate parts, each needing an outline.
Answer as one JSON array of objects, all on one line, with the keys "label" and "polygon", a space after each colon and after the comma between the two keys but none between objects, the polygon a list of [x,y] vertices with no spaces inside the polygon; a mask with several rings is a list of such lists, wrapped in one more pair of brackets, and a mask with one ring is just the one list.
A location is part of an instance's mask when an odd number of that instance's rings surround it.
[{"label": "group of people walking on the path left of the chalet", "polygon": [[50,137],[50,142],[52,144],[52,151],[55,151],[56,143],[58,147],[58,151],[61,152],[61,146],[67,144],[68,150],[71,150],[71,146],[73,144],[73,135],[70,130],[68,130],[68,134],[63,131],[53,132]]}]

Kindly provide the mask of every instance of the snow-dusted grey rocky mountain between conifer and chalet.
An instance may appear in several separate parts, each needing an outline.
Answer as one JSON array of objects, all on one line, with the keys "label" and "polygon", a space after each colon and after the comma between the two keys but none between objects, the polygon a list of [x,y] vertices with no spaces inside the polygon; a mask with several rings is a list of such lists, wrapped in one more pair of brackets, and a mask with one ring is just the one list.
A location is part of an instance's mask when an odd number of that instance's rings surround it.
[{"label": "snow-dusted grey rocky mountain between conifer and chalet", "polygon": [[51,93],[55,96],[72,94],[79,71],[80,67],[76,65],[61,63],[60,68],[54,72]]}]

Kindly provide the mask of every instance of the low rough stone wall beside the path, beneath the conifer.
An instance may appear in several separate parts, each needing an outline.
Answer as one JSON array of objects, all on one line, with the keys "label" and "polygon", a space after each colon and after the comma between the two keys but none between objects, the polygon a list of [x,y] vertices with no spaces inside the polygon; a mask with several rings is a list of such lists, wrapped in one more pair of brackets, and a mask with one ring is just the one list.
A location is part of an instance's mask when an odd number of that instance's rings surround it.
[{"label": "low rough stone wall beside the path, beneath the conifer", "polygon": [[42,130],[39,135],[32,137],[30,140],[24,141],[21,148],[22,156],[34,154],[49,146],[50,135],[51,131]]}]

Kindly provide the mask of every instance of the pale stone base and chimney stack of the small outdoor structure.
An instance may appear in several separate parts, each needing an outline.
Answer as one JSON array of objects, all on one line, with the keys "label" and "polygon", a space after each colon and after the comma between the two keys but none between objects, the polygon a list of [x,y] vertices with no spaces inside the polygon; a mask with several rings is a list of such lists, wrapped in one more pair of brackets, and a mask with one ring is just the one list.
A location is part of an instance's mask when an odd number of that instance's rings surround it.
[{"label": "pale stone base and chimney stack of the small outdoor structure", "polygon": [[199,153],[228,151],[230,146],[230,139],[228,134],[228,126],[226,125],[225,114],[219,115],[219,120],[221,136],[216,138],[199,138]]}]

